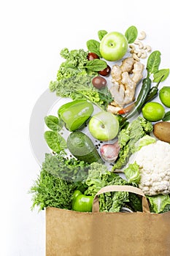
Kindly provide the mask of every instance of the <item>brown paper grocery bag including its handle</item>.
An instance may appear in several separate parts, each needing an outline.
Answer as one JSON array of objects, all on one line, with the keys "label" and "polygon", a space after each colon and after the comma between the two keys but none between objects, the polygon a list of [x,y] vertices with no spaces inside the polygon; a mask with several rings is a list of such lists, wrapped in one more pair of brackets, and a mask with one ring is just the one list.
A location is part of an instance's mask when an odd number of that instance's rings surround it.
[{"label": "brown paper grocery bag including its handle", "polygon": [[[143,212],[98,212],[104,192],[142,195]],[[151,214],[143,192],[131,186],[108,186],[93,200],[93,213],[46,209],[46,256],[169,256],[170,212]]]}]

